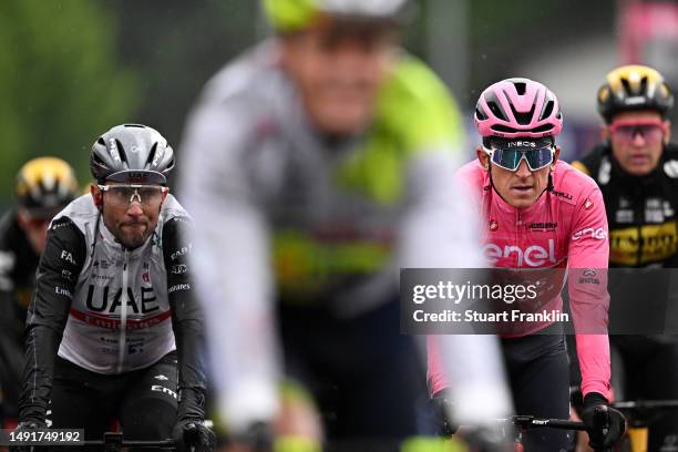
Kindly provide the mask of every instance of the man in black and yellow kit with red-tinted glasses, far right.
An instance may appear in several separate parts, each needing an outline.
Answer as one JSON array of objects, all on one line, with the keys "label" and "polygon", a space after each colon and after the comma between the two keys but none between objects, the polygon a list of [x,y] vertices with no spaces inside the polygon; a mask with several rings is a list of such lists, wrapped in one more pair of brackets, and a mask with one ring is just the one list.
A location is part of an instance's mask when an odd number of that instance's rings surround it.
[{"label": "man in black and yellow kit with red-tinted glasses, far right", "polygon": [[[598,113],[604,120],[604,142],[573,166],[593,177],[605,199],[609,223],[609,266],[616,268],[678,267],[678,147],[670,143],[674,95],[664,76],[645,65],[624,65],[610,71],[598,90]],[[622,270],[618,270],[622,271]],[[627,270],[633,271],[633,270]],[[665,310],[649,308],[662,302],[650,299],[647,282],[666,284],[666,273],[635,270],[643,275],[644,302],[630,299],[623,281],[610,284],[613,307],[622,306],[619,320],[630,321],[638,335],[614,335],[614,382],[617,400],[678,399],[678,339],[676,336],[643,335],[640,318]],[[633,274],[631,274],[633,275]],[[620,275],[622,276],[622,275]],[[636,278],[624,278],[637,284]],[[634,281],[634,282],[631,282]],[[660,298],[660,297],[657,297]],[[616,302],[615,302],[616,301]],[[629,315],[626,306],[641,309]],[[613,318],[613,321],[617,317]],[[678,412],[671,411],[650,425],[649,450],[675,450]],[[662,449],[666,448],[666,449]]]}]

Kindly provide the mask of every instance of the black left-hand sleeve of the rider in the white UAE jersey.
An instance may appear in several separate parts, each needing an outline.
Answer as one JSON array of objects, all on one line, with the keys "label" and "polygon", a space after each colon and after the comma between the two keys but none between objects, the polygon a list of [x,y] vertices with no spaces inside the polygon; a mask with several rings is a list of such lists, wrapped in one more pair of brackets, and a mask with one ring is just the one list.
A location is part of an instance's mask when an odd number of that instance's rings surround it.
[{"label": "black left-hand sleeve of the rider in the white UAE jersey", "polygon": [[83,234],[68,217],[52,222],[38,266],[25,320],[25,364],[19,419],[42,420],[52,389],[54,359],[85,260]]}]

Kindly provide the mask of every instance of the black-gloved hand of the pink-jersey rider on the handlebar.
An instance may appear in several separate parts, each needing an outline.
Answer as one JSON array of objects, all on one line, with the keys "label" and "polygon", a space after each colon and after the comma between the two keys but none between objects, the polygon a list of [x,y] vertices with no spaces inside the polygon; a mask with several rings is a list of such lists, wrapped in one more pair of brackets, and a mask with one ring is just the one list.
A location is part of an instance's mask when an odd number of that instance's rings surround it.
[{"label": "black-gloved hand of the pink-jersey rider on the handlebar", "polygon": [[608,405],[607,399],[597,392],[584,398],[582,420],[588,432],[588,444],[594,449],[610,448],[626,431],[626,418]]}]

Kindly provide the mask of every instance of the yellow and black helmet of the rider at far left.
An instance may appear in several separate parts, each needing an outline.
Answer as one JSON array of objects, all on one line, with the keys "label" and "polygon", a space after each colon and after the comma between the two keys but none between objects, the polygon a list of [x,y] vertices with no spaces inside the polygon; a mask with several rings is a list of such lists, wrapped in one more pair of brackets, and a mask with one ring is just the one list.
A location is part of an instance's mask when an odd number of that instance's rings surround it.
[{"label": "yellow and black helmet of the rider at far left", "polygon": [[54,214],[78,196],[78,181],[71,165],[56,157],[27,162],[17,175],[19,206],[35,216]]}]

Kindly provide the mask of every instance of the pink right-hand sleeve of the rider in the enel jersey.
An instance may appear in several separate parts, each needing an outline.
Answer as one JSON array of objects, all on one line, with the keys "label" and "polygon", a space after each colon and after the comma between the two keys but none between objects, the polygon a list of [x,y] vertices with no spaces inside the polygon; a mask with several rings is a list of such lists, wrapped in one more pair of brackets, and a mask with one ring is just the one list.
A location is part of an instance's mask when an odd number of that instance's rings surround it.
[{"label": "pink right-hand sleeve of the rider in the enel jersey", "polygon": [[600,191],[595,187],[575,207],[568,247],[569,307],[582,371],[582,392],[610,399],[610,359],[607,320],[607,217]]}]

